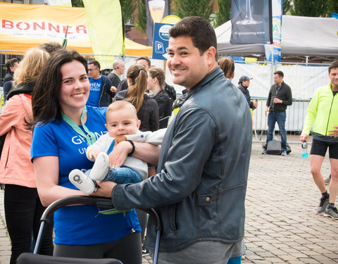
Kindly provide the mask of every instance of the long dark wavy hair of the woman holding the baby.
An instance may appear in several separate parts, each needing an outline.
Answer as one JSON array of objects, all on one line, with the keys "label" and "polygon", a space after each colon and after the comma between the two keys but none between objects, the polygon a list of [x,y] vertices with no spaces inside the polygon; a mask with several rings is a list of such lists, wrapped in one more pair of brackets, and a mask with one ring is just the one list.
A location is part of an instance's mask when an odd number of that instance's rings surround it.
[{"label": "long dark wavy hair of the woman holding the baby", "polygon": [[72,61],[82,63],[88,73],[87,60],[77,51],[67,49],[54,51],[44,65],[32,94],[33,120],[30,123],[32,129],[37,125],[37,122],[46,124],[50,121],[60,120],[61,106],[58,97],[62,84],[61,66]]}]

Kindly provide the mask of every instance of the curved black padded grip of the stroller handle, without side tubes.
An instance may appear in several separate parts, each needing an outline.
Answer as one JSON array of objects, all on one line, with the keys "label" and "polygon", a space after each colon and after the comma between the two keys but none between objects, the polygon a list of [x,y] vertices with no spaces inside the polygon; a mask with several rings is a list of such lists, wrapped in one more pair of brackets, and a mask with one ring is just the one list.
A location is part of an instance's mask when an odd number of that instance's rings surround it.
[{"label": "curved black padded grip of the stroller handle, without side tubes", "polygon": [[[51,216],[54,214],[56,210],[63,206],[70,206],[75,204],[89,204],[93,206],[97,206],[99,208],[106,208],[111,209],[113,208],[113,203],[109,198],[102,198],[96,196],[82,196],[82,195],[75,195],[75,196],[68,196],[57,201],[51,203],[41,217],[41,222],[49,222]],[[155,221],[156,230],[162,231],[162,223],[161,220],[156,213],[156,210],[153,208],[137,208],[139,210],[143,210],[144,212],[148,213],[151,218]]]}]

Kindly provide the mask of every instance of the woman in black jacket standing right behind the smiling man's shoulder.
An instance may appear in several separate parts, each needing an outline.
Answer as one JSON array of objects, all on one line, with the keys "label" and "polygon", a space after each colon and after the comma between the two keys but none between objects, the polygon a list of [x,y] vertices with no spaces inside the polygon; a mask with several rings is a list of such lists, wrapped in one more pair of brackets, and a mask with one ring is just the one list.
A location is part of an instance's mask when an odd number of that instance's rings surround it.
[{"label": "woman in black jacket standing right behind the smiling man's shoulder", "polygon": [[164,70],[158,67],[151,67],[148,70],[148,90],[153,92],[151,96],[158,106],[158,115],[160,118],[160,128],[168,126],[168,120],[171,116],[170,98],[164,91],[165,84]]}]

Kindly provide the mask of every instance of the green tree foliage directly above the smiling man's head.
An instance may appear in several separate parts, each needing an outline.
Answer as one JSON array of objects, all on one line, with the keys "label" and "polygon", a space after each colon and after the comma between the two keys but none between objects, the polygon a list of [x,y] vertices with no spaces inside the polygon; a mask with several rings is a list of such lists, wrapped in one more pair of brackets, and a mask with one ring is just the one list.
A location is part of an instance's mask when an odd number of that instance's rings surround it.
[{"label": "green tree foliage directly above the smiling man's head", "polygon": [[180,18],[187,16],[198,15],[211,21],[210,15],[213,13],[214,0],[173,0],[173,5],[176,9],[175,15]]}]

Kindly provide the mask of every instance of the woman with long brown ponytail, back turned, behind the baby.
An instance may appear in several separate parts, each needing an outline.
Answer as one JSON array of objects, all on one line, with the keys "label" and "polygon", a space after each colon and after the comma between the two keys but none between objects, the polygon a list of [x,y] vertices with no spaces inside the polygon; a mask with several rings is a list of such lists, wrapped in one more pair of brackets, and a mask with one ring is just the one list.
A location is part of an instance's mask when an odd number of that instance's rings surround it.
[{"label": "woman with long brown ponytail, back turned, behind the baby", "polygon": [[127,70],[128,89],[115,95],[115,100],[126,100],[132,103],[141,120],[139,130],[156,131],[159,128],[158,106],[154,99],[147,96],[148,75],[143,65],[135,64]]}]

